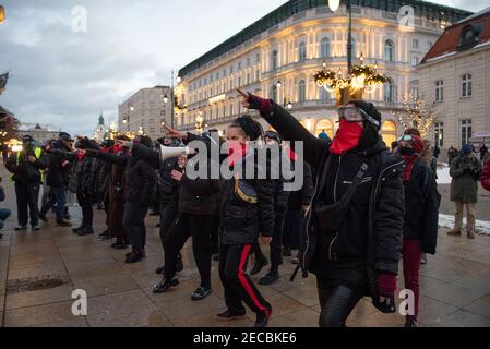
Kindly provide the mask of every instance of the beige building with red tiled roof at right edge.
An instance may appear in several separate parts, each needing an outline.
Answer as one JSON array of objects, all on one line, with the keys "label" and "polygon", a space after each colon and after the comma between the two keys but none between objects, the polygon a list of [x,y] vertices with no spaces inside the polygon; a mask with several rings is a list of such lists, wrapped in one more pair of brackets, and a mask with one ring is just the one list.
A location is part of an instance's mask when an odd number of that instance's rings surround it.
[{"label": "beige building with red tiled roof at right edge", "polygon": [[447,27],[418,67],[420,93],[440,109],[433,140],[490,146],[490,8]]}]

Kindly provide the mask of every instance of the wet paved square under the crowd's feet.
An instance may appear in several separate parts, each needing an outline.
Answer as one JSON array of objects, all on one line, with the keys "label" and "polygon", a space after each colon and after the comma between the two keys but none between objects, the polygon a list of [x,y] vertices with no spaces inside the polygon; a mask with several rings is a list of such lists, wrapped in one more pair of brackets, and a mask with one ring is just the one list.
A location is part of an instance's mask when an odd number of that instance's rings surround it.
[{"label": "wet paved square under the crowd's feet", "polygon": [[[7,178],[4,169],[0,176]],[[13,188],[5,181],[8,201],[0,207],[15,207]],[[480,207],[490,212],[490,206]],[[15,209],[12,209],[15,210]],[[72,209],[73,224],[80,222],[79,209]],[[51,220],[53,217],[50,216]],[[154,274],[163,263],[156,218],[147,219],[147,257],[134,265],[122,263],[124,251],[113,251],[110,242],[97,234],[77,237],[71,229],[43,225],[39,232],[14,232],[14,216],[7,222],[0,240],[0,320],[3,326],[251,326],[248,316],[218,322],[224,310],[223,288],[213,262],[214,293],[201,302],[190,299],[198,286],[198,272],[189,244],[183,250],[184,270],[180,286],[155,296],[152,286],[160,277]],[[96,231],[104,230],[104,213],[96,212]],[[421,326],[490,326],[490,237],[447,237],[441,229],[439,251],[421,267]],[[274,308],[271,326],[316,326],[319,301],[315,280],[298,277],[290,258],[282,266],[282,279],[260,290]],[[33,278],[59,279],[53,288],[29,290]],[[256,278],[255,278],[256,279]],[[403,284],[399,284],[403,285]],[[43,285],[41,285],[43,286]],[[48,286],[48,285],[44,285]],[[88,315],[72,314],[73,289],[88,296]],[[401,315],[375,311],[362,300],[348,320],[348,326],[403,326]]]}]

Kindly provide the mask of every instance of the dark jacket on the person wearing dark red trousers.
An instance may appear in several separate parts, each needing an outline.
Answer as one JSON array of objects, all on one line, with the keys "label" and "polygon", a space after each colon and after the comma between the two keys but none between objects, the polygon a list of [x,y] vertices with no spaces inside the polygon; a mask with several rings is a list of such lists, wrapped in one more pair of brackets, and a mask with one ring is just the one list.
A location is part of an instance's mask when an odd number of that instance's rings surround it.
[{"label": "dark jacket on the person wearing dark red trousers", "polygon": [[435,254],[441,195],[434,173],[423,158],[419,158],[405,186],[404,238],[421,242],[422,252]]}]

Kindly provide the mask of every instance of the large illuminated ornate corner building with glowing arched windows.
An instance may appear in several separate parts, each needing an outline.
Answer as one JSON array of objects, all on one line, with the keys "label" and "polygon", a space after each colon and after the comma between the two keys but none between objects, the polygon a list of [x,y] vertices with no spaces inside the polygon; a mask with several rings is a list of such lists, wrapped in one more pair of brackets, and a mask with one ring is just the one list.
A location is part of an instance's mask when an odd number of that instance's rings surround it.
[{"label": "large illuminated ornate corner building with glowing arched windows", "polygon": [[[390,75],[384,88],[364,94],[382,112],[383,136],[390,144],[402,132],[393,111],[408,93],[419,94],[414,67],[445,26],[470,13],[415,0],[351,3],[354,63],[362,55],[364,63],[377,64]],[[189,108],[176,117],[176,127],[195,130],[202,119],[204,127],[223,131],[243,112],[236,93],[241,87],[290,104],[291,113],[311,132],[318,135],[325,130],[332,136],[337,121],[335,96],[319,87],[313,75],[323,63],[347,74],[347,38],[345,5],[333,13],[324,0],[286,2],[180,70],[179,99]]]}]

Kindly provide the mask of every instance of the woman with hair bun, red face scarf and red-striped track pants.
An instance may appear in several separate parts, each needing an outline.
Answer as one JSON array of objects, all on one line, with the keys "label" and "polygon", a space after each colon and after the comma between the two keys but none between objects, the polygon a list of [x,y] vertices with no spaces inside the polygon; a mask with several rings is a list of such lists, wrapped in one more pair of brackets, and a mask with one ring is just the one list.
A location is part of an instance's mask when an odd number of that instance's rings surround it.
[{"label": "woman with hair bun, red face scarf and red-striped track pants", "polygon": [[[168,128],[167,135],[181,139],[184,143],[206,142],[192,133]],[[256,176],[244,176],[247,161],[254,161],[255,158],[252,142],[261,137],[261,124],[249,116],[238,118],[228,127],[226,141],[222,140],[227,142],[228,156],[224,156],[222,161],[227,161],[235,176],[223,181],[219,203],[219,277],[228,309],[217,316],[222,320],[244,316],[244,302],[256,314],[255,327],[265,327],[272,312],[271,304],[246,273],[252,245],[260,236],[262,242],[268,244],[274,231],[273,182],[268,179],[256,179]],[[254,169],[255,173],[266,170],[259,168],[256,161]],[[241,170],[242,173],[239,172]]]}]

